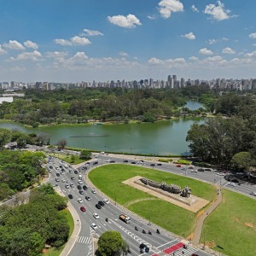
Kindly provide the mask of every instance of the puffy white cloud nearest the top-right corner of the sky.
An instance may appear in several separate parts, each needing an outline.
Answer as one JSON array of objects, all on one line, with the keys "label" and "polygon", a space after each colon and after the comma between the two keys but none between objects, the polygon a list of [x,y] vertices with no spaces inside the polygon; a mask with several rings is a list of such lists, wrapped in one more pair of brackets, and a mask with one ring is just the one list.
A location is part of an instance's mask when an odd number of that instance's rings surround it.
[{"label": "puffy white cloud nearest the top-right corner of the sky", "polygon": [[206,6],[205,14],[211,15],[213,20],[229,20],[235,15],[230,16],[230,10],[224,9],[224,3],[217,1],[218,4],[210,3]]}]

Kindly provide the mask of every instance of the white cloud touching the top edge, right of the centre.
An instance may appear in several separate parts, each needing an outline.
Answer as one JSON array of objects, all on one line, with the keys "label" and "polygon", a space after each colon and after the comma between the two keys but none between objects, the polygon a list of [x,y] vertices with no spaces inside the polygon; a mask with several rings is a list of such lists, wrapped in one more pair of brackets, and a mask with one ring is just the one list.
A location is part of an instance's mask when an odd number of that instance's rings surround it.
[{"label": "white cloud touching the top edge, right of the centre", "polygon": [[162,0],[158,5],[160,6],[160,15],[164,19],[170,18],[172,13],[183,11],[183,3],[179,2],[179,0]]}]

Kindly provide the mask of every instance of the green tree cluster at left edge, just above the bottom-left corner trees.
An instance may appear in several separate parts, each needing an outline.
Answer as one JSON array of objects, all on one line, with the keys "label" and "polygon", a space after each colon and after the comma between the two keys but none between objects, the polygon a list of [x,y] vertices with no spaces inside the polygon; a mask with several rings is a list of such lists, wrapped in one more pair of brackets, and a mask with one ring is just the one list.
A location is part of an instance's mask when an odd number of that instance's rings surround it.
[{"label": "green tree cluster at left edge, just above the bottom-left corner trees", "polygon": [[44,174],[44,154],[29,151],[0,152],[0,201],[38,182]]}]

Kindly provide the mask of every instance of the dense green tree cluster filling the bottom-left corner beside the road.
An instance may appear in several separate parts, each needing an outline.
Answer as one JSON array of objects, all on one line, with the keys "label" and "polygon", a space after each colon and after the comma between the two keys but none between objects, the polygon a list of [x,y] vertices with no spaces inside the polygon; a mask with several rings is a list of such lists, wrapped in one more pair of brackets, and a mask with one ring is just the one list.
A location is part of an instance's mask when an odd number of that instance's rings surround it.
[{"label": "dense green tree cluster filling the bottom-left corner beside the road", "polygon": [[32,192],[28,204],[9,209],[0,217],[0,255],[38,256],[45,244],[60,247],[68,238],[67,218],[60,210],[67,200],[49,184]]}]

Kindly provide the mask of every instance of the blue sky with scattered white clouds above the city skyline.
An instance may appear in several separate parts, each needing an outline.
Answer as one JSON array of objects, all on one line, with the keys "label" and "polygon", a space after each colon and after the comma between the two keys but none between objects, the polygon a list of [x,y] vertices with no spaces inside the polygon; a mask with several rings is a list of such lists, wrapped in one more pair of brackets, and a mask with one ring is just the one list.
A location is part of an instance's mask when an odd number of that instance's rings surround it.
[{"label": "blue sky with scattered white clouds above the city skyline", "polygon": [[0,4],[0,81],[256,78],[255,0]]}]

